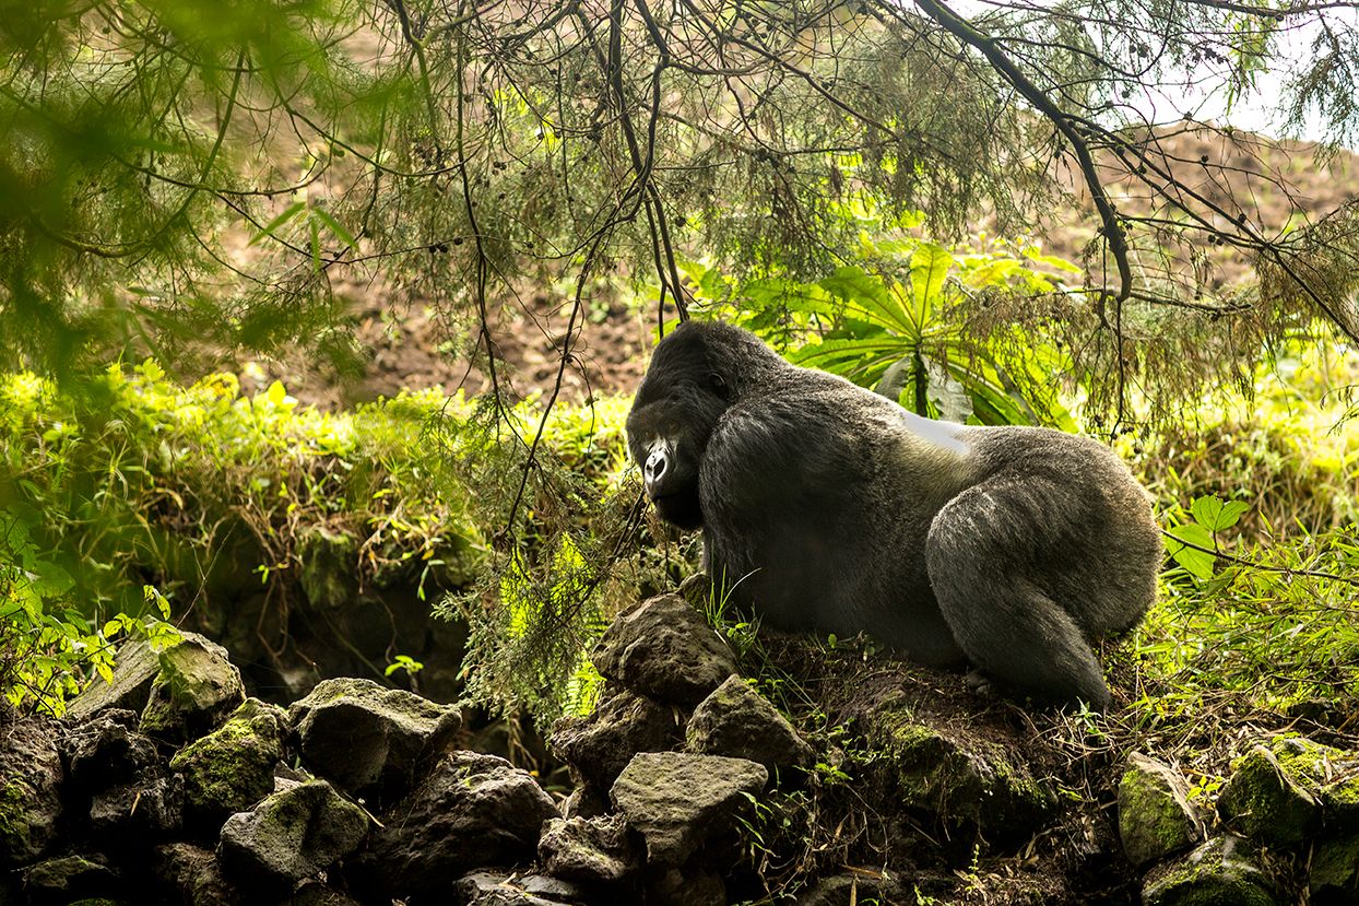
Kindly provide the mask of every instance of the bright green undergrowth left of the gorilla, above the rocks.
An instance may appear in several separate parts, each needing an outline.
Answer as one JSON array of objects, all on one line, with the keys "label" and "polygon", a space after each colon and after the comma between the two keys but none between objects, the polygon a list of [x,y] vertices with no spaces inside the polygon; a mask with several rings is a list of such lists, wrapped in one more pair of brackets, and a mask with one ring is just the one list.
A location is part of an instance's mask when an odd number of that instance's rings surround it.
[{"label": "bright green undergrowth left of the gorilla, above the rocks", "polygon": [[[544,424],[533,472],[590,490],[576,488],[565,528],[516,539],[520,573],[537,548],[598,528],[588,517],[622,465],[621,407],[559,407]],[[117,635],[163,634],[162,618],[261,592],[284,608],[336,580],[318,565],[360,589],[401,575],[431,603],[439,589],[473,596],[507,547],[495,502],[510,495],[493,486],[523,473],[511,431],[537,429],[531,405],[510,415],[487,427],[438,392],[326,414],[279,384],[242,396],[228,374],[182,386],[154,362],[77,388],[0,378],[0,687],[60,713],[107,672]],[[519,506],[553,497],[540,490],[525,482]]]}]

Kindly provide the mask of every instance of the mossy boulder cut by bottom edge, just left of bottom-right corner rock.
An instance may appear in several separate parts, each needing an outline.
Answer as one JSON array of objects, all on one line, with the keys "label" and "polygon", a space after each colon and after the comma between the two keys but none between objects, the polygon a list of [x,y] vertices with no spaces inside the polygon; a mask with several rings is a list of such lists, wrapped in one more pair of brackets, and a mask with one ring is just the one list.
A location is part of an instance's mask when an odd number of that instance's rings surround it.
[{"label": "mossy boulder cut by bottom edge, just left of bottom-right corner rock", "polygon": [[1246,841],[1215,837],[1148,875],[1143,906],[1276,906],[1265,872]]}]

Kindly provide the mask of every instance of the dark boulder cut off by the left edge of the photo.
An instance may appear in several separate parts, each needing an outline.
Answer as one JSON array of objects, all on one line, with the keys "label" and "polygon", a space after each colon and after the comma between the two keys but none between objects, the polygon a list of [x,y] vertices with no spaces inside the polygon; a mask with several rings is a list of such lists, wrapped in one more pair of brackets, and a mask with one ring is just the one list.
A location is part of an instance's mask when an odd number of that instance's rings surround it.
[{"label": "dark boulder cut off by the left edge of the photo", "polygon": [[0,733],[0,871],[27,865],[57,835],[65,771],[52,725],[15,721]]}]

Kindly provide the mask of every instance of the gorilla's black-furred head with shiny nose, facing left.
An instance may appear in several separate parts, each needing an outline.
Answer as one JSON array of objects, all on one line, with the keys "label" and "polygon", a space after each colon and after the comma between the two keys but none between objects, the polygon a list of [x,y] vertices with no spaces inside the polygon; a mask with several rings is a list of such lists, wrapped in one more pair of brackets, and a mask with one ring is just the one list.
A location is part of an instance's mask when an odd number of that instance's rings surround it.
[{"label": "gorilla's black-furred head with shiny nose, facing left", "polygon": [[699,465],[718,419],[771,369],[786,367],[753,333],[685,321],[656,344],[628,415],[628,448],[665,521],[703,525]]}]

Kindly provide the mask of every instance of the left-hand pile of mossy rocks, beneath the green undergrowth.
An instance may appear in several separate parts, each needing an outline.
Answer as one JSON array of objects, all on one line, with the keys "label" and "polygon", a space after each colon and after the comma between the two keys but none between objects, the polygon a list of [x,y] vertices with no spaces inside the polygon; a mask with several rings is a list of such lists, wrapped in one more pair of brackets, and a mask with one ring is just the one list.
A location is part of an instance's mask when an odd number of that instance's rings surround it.
[{"label": "left-hand pile of mossy rocks, beneath the green undergrowth", "polygon": [[130,645],[69,713],[0,725],[0,903],[448,902],[557,816],[526,771],[448,751],[455,709],[336,679],[283,710],[193,634]]}]

